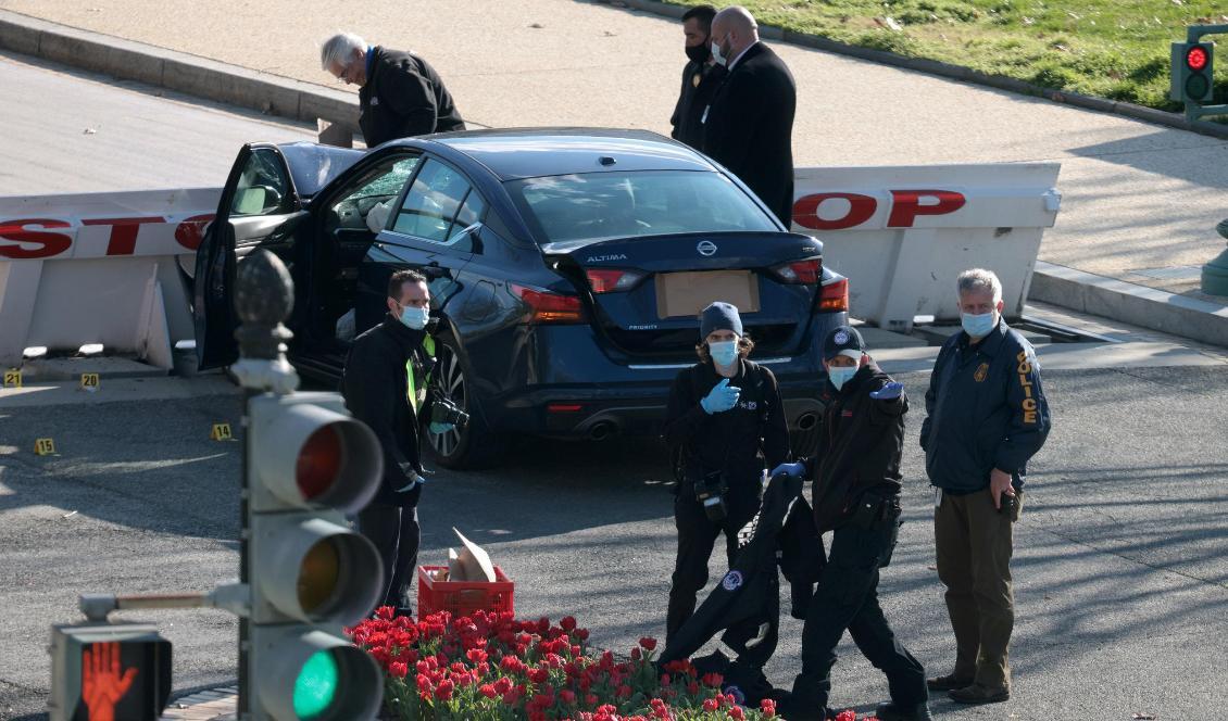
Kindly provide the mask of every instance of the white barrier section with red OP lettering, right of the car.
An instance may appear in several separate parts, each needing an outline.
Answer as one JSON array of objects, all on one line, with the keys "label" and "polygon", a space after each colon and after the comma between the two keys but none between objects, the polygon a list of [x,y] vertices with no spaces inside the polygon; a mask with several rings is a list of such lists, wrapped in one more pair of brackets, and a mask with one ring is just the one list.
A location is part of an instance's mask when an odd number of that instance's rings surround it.
[{"label": "white barrier section with red OP lettering, right of the car", "polygon": [[957,320],[955,276],[974,266],[997,272],[1006,314],[1018,316],[1061,206],[1060,168],[798,168],[793,229],[823,240],[856,318],[900,331],[917,316]]}]

